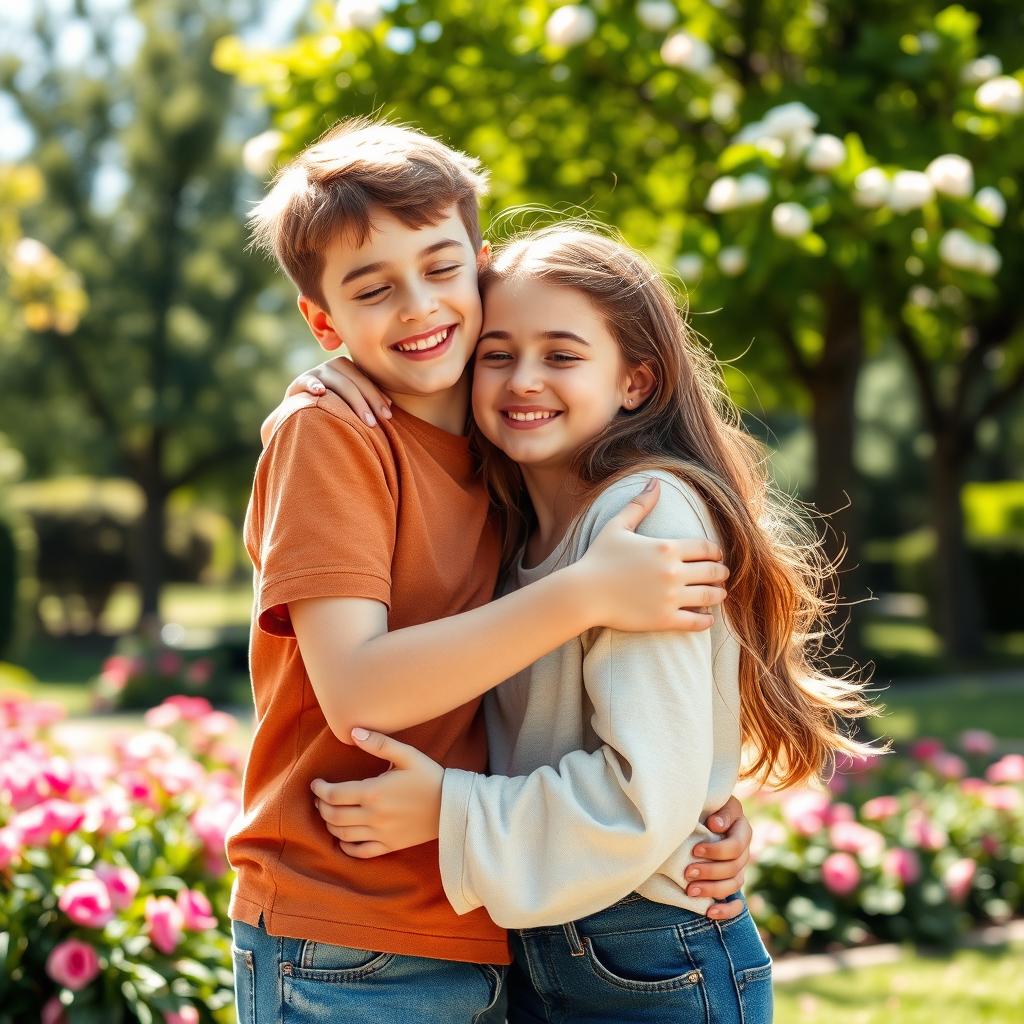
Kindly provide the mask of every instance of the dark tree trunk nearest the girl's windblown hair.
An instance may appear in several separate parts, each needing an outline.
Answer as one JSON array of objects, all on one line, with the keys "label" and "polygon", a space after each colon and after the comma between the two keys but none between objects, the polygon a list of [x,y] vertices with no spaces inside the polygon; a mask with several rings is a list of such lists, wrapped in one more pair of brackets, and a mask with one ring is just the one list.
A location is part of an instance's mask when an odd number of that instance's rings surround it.
[{"label": "dark tree trunk nearest the girl's windblown hair", "polygon": [[839,559],[839,593],[844,602],[833,615],[837,630],[849,620],[844,647],[856,657],[860,648],[859,606],[848,602],[867,596],[859,562],[862,504],[854,463],[857,381],[863,362],[864,341],[857,297],[837,293],[825,311],[824,351],[810,382],[811,423],[814,430],[814,504],[828,516],[825,552]]}]

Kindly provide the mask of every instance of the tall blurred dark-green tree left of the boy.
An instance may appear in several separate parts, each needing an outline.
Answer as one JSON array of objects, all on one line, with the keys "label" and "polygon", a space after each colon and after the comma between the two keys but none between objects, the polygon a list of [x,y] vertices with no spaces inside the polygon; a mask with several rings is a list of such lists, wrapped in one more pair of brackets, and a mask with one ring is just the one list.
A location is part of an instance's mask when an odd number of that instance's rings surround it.
[{"label": "tall blurred dark-green tree left of the boy", "polygon": [[[3,341],[12,400],[0,428],[36,472],[71,464],[138,483],[147,617],[168,496],[254,458],[281,386],[280,303],[268,268],[244,254],[253,182],[240,90],[211,61],[257,12],[229,0],[137,0],[114,14],[78,4],[88,43],[72,63],[67,16],[40,5],[18,52],[0,59],[45,187],[22,214],[32,238],[7,251],[6,301],[23,316]],[[69,289],[72,310],[57,302]]]}]

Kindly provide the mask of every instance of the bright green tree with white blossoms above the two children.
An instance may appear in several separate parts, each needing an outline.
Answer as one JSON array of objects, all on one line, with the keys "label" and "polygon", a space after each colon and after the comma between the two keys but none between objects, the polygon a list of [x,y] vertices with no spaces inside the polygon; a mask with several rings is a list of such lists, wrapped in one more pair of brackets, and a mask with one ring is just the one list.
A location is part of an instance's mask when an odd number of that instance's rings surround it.
[{"label": "bright green tree with white blossoms above the two children", "polygon": [[[949,344],[959,346],[967,379],[952,390],[972,399],[961,441],[943,443],[934,416],[925,427],[936,437],[939,621],[950,650],[975,649],[958,486],[977,422],[1024,385],[1006,287],[1020,259],[1021,76],[978,56],[992,48],[1021,62],[1018,7],[989,3],[981,24],[925,0],[387,8],[314,4],[284,49],[225,40],[216,60],[263,89],[284,153],[339,116],[383,111],[479,156],[494,175],[492,210],[583,205],[676,262],[691,307],[720,310],[696,321],[717,353],[743,352],[727,368],[737,398],[753,401],[750,382],[763,407],[809,416],[814,499],[833,514],[834,552],[861,540],[854,439],[865,359],[901,344],[944,401]],[[967,155],[978,183],[999,190],[1001,227],[995,201],[936,188],[948,165],[922,174],[944,154]],[[918,173],[897,179],[898,170]],[[864,171],[873,173],[858,179]],[[786,203],[796,206],[776,212]],[[951,230],[963,236],[940,252]],[[941,342],[908,299],[929,283],[950,299]],[[986,340],[965,345],[965,331]],[[915,379],[928,409],[933,384]],[[862,595],[855,578],[845,574],[851,598]]]}]

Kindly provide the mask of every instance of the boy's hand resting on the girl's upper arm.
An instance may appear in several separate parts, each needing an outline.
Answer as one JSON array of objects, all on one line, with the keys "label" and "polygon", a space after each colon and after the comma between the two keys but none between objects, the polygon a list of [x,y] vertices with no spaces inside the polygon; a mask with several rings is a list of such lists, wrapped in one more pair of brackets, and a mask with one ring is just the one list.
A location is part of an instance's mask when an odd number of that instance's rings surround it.
[{"label": "boy's hand resting on the girl's upper arm", "polygon": [[638,537],[637,526],[657,504],[658,481],[609,520],[587,553],[565,571],[581,582],[595,626],[630,633],[698,632],[714,623],[729,570],[713,541]]}]

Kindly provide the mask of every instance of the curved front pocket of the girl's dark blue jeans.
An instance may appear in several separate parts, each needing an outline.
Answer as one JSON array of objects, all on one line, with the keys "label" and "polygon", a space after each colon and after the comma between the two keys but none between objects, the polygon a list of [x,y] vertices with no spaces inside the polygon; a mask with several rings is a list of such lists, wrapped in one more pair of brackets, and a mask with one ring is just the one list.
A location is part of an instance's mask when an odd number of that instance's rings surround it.
[{"label": "curved front pocket of the girl's dark blue jeans", "polygon": [[594,974],[630,991],[696,989],[702,981],[677,928],[588,935],[584,936],[583,945]]}]

